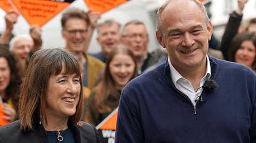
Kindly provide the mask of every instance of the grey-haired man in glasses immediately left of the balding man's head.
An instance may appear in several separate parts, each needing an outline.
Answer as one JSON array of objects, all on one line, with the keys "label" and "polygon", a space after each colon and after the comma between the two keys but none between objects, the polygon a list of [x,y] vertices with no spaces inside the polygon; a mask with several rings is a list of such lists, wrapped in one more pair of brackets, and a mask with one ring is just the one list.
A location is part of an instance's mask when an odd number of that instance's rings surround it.
[{"label": "grey-haired man in glasses immediately left of the balding man's head", "polygon": [[164,54],[161,50],[148,53],[148,32],[145,24],[141,21],[133,20],[127,22],[122,30],[121,40],[133,52],[137,61],[139,75],[149,66],[157,63],[159,57]]}]

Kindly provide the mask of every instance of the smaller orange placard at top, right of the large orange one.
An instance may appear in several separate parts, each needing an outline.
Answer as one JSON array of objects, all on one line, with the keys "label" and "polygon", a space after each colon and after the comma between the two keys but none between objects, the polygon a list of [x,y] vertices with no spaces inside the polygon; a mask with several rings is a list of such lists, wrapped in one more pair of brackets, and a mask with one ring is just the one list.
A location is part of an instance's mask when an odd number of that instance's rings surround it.
[{"label": "smaller orange placard at top, right of the large orange one", "polygon": [[84,0],[84,2],[89,8],[93,8],[93,11],[104,13],[127,2],[127,0]]}]

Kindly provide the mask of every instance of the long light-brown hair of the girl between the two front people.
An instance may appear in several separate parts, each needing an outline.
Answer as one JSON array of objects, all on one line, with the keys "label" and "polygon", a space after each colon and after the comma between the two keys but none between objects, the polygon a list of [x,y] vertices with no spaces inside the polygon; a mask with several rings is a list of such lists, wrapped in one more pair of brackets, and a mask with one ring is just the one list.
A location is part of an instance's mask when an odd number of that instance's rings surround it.
[{"label": "long light-brown hair of the girl between the two front people", "polygon": [[120,99],[120,92],[118,92],[118,89],[116,88],[115,81],[113,77],[110,74],[109,64],[113,60],[113,57],[117,54],[125,54],[129,55],[133,62],[135,63],[134,72],[132,75],[132,79],[137,77],[137,65],[135,61],[135,57],[132,53],[132,51],[124,46],[124,45],[117,45],[115,48],[111,50],[111,52],[107,55],[107,61],[106,61],[106,69],[103,74],[102,80],[99,83],[99,85],[95,88],[96,94],[94,98],[94,108],[96,113],[104,113],[104,112],[110,112],[111,108],[107,105],[106,101],[108,97],[114,96],[114,98],[119,101]]}]

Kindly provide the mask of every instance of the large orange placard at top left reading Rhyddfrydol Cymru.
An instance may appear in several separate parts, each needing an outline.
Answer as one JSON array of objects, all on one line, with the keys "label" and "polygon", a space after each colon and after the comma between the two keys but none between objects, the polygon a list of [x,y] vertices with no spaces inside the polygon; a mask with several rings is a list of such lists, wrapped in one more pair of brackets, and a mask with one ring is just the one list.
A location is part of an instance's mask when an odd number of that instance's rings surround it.
[{"label": "large orange placard at top left reading Rhyddfrydol Cymru", "polygon": [[9,0],[13,7],[31,25],[38,24],[42,27],[43,24],[51,20],[55,15],[65,9],[71,2],[56,2],[45,0]]}]

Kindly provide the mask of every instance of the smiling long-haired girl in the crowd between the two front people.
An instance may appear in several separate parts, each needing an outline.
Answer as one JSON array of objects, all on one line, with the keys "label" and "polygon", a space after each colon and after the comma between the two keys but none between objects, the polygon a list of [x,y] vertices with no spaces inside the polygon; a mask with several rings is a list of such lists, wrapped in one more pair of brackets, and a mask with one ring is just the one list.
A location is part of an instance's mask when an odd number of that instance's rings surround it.
[{"label": "smiling long-haired girl in the crowd between the two front people", "polygon": [[121,91],[137,77],[135,57],[124,45],[117,45],[107,55],[106,69],[101,82],[89,97],[85,121],[98,125],[118,107]]}]

